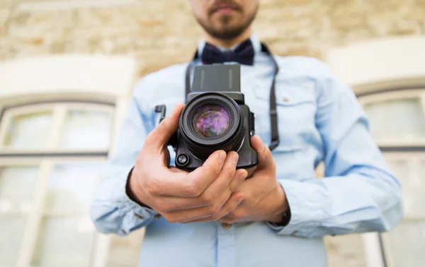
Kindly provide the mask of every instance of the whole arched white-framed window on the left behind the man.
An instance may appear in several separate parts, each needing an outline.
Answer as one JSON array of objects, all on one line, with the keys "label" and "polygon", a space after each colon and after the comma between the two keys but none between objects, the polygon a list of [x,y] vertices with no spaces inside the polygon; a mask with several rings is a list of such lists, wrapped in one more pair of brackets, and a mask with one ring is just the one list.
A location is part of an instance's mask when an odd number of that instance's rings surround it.
[{"label": "whole arched white-framed window on the left behind the man", "polygon": [[46,102],[0,118],[0,266],[91,266],[89,206],[113,106]]}]

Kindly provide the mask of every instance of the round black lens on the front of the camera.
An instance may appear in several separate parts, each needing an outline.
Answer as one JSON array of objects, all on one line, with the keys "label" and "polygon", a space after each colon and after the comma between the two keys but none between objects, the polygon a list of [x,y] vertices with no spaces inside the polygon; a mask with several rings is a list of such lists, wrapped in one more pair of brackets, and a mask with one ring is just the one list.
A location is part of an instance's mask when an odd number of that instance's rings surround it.
[{"label": "round black lens on the front of the camera", "polygon": [[237,151],[244,139],[244,117],[237,102],[222,93],[202,93],[186,103],[180,133],[200,160],[216,150]]}]

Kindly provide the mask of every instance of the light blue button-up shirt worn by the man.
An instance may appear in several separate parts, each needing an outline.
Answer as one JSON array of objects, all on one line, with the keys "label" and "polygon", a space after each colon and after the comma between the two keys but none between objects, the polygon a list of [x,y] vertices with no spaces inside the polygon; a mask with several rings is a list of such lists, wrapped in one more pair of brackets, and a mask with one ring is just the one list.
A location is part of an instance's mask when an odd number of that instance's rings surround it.
[{"label": "light blue button-up shirt worn by the man", "polygon": [[[268,144],[273,64],[255,35],[251,41],[254,66],[241,67],[242,93],[256,115],[256,134]],[[165,104],[169,114],[176,102],[184,102],[187,63],[137,83],[91,218],[104,233],[131,235],[147,227],[140,266],[324,267],[325,235],[387,231],[402,219],[401,186],[370,136],[368,119],[352,90],[317,59],[276,56],[276,61],[280,145],[273,157],[292,213],[286,227],[266,222],[231,227],[216,221],[169,223],[131,201],[125,183],[147,133],[157,124],[154,107]],[[172,149],[170,154],[174,164]],[[319,162],[326,166],[324,178],[315,172]]]}]

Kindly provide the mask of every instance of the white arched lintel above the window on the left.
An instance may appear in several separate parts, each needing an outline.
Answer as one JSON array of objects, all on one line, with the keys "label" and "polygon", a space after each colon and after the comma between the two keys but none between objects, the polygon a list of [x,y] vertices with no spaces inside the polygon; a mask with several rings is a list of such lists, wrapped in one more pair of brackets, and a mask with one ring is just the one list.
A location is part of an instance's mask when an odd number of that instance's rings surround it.
[{"label": "white arched lintel above the window on the left", "polygon": [[60,55],[0,63],[0,100],[28,95],[126,97],[137,81],[132,57]]}]

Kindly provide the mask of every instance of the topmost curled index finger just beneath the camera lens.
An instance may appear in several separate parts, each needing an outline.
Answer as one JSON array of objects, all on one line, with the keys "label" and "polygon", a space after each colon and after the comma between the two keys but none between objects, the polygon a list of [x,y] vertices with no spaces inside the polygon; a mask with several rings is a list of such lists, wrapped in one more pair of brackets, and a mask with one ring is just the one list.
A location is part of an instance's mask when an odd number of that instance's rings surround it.
[{"label": "topmost curled index finger just beneath the camera lens", "polygon": [[200,196],[212,181],[220,174],[226,159],[223,150],[215,151],[193,172],[177,171],[176,168],[161,170],[157,176],[157,190],[153,193],[158,196],[176,196],[194,198]]}]

